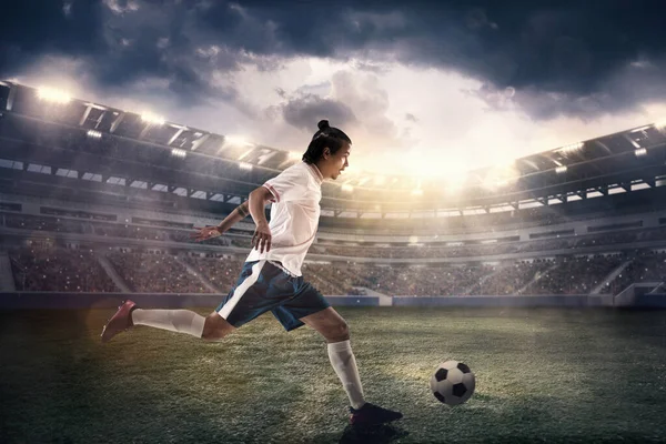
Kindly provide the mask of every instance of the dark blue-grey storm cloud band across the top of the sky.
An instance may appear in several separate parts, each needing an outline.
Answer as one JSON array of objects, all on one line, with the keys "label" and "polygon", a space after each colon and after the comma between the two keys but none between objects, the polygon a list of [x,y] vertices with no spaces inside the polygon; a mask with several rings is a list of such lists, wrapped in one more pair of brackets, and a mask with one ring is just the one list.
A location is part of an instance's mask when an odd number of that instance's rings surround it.
[{"label": "dark blue-grey storm cloud band across the top of the sky", "polygon": [[[396,60],[456,70],[491,91],[514,88],[512,100],[539,118],[581,115],[666,99],[665,13],[657,0],[22,0],[0,14],[0,77],[68,54],[89,61],[102,87],[158,77],[191,100],[235,100],[215,72],[278,69],[289,56],[354,56],[364,71]],[[640,60],[648,70],[627,72]],[[635,91],[619,79],[650,83]]]}]

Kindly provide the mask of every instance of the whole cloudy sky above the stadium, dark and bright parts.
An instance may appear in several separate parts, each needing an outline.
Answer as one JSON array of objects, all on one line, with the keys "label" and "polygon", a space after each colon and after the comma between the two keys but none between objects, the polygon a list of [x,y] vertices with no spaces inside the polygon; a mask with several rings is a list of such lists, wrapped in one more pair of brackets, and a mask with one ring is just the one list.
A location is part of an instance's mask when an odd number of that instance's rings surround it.
[{"label": "whole cloudy sky above the stadium, dark and bright parts", "polygon": [[441,176],[666,119],[666,2],[22,0],[0,79]]}]

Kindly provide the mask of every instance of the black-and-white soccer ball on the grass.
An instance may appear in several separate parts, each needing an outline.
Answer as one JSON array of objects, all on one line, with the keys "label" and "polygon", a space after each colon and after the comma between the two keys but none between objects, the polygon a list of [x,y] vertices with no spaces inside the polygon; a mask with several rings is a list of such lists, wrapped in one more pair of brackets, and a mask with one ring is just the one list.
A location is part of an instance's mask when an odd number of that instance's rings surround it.
[{"label": "black-and-white soccer ball on the grass", "polygon": [[474,373],[462,362],[446,361],[437,366],[431,377],[431,390],[446,405],[464,403],[474,393]]}]

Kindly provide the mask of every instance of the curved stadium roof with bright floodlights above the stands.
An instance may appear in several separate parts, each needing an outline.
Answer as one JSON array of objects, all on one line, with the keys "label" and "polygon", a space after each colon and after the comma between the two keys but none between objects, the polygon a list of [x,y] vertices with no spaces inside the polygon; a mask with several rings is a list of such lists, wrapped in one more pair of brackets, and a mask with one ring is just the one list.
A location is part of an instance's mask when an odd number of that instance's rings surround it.
[{"label": "curved stadium roof with bright floodlights above the stands", "polygon": [[[168,122],[154,113],[8,81],[0,82],[0,112],[11,121],[0,131],[3,162],[21,162],[21,170],[31,172],[48,167],[58,178],[88,175],[98,182],[233,202],[300,161],[293,152]],[[52,137],[30,139],[36,131]],[[503,165],[456,174],[455,180],[350,173],[324,184],[322,214],[493,212],[657,186],[666,178],[665,147],[665,128],[657,123],[507,159]]]}]

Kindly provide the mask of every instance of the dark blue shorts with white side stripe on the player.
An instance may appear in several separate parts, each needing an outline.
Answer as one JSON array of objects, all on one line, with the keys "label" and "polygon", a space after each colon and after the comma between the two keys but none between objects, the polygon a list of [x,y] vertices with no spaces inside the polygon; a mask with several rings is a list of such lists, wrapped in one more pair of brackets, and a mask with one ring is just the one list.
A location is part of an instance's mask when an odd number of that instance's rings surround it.
[{"label": "dark blue shorts with white side stripe on the player", "polygon": [[271,311],[289,332],[303,325],[301,317],[329,306],[322,293],[303,276],[294,278],[261,260],[243,264],[235,286],[215,311],[235,327]]}]

